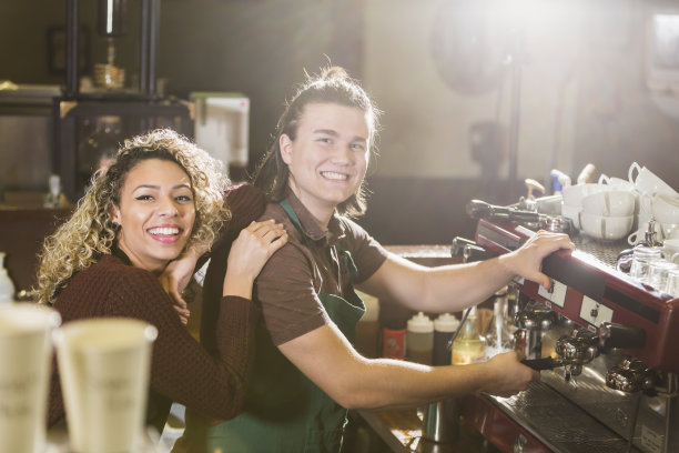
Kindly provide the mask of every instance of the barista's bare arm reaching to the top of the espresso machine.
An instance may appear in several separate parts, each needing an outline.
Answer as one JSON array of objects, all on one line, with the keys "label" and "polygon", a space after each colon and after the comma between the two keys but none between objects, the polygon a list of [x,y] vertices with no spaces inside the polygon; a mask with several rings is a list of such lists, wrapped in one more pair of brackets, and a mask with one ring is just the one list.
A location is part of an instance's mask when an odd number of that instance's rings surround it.
[{"label": "barista's bare arm reaching to the top of the espresso machine", "polygon": [[516,275],[549,288],[543,259],[560,249],[575,249],[568,235],[540,231],[513,252],[474,263],[426,268],[391,254],[357,288],[413,310],[455,312],[486,300]]}]

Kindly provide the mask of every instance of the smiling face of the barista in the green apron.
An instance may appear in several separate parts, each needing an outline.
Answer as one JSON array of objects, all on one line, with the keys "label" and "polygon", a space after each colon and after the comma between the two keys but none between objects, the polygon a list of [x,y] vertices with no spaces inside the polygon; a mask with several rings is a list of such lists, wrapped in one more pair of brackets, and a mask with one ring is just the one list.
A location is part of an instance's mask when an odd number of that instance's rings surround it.
[{"label": "smiling face of the barista in the green apron", "polygon": [[335,207],[361,187],[369,157],[368,140],[365,112],[336,103],[305,105],[295,140],[281,135],[290,187],[317,220],[327,222]]}]

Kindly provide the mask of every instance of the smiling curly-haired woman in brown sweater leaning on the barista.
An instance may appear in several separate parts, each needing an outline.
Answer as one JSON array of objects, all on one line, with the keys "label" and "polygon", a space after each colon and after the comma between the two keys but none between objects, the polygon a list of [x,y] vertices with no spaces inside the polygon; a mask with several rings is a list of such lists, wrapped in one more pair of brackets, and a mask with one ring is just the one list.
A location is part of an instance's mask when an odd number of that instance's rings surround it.
[{"label": "smiling curly-haired woman in brown sweater leaning on the barista", "polygon": [[[217,419],[235,416],[249,382],[259,310],[252,282],[286,241],[281,225],[253,222],[234,242],[220,300],[217,356],[186,331],[185,305],[173,304],[159,276],[182,253],[207,250],[230,212],[219,162],[183,137],[158,130],[126,140],[100,170],[73,215],[44,242],[34,294],[63,323],[135,318],[154,325],[148,423],[159,430],[173,401]],[[277,239],[276,239],[277,238]],[[49,424],[64,421],[59,372]]]}]

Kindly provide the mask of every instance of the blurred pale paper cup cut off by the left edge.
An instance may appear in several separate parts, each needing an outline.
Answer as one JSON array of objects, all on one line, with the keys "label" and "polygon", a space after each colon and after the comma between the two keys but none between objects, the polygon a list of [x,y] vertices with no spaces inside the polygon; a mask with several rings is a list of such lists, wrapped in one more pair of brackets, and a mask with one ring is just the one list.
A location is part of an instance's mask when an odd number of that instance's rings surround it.
[{"label": "blurred pale paper cup cut off by the left edge", "polygon": [[60,323],[57,311],[32,303],[0,309],[0,452],[45,449],[50,334]]}]

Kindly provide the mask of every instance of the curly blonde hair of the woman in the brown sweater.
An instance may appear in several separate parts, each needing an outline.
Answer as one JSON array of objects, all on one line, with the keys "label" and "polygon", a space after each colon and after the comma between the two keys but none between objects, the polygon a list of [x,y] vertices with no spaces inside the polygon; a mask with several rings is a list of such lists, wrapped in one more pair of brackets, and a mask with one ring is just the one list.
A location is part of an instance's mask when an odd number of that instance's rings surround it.
[{"label": "curly blonde hair of the woman in the brown sweater", "polygon": [[195,222],[185,250],[210,248],[223,222],[231,218],[224,204],[229,180],[222,165],[185,137],[169,129],[154,130],[125,140],[113,162],[94,173],[71,218],[44,240],[37,288],[32,290],[39,303],[51,304],[73,274],[111,253],[116,235],[116,225],[109,217],[111,208],[120,203],[126,174],[148,159],[175,162],[186,172],[194,197]]}]

